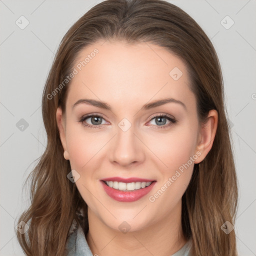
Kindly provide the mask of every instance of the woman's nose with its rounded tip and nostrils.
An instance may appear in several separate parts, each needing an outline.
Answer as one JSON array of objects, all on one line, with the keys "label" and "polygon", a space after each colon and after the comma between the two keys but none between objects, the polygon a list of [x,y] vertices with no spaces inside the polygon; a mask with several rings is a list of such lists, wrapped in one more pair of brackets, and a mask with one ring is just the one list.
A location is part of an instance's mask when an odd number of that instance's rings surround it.
[{"label": "woman's nose with its rounded tip and nostrils", "polygon": [[118,127],[111,142],[110,161],[125,167],[143,162],[146,146],[141,140],[132,125],[126,131]]}]

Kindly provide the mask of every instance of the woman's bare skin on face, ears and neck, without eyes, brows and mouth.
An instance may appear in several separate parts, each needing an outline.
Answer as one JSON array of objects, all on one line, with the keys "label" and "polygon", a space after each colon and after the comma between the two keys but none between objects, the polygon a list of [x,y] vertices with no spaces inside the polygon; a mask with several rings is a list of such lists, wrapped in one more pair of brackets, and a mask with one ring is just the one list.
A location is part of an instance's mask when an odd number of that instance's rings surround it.
[{"label": "woman's bare skin on face, ears and neck, without eyes, brows and mouth", "polygon": [[[99,52],[71,80],[65,115],[60,108],[56,111],[64,157],[79,173],[75,185],[88,205],[86,239],[92,254],[173,254],[186,242],[181,229],[181,197],[194,163],[202,161],[212,146],[217,111],[209,111],[205,125],[199,123],[186,66],[162,47],[100,41],[84,48],[77,63],[95,48]],[[174,67],[182,71],[177,80],[169,75]],[[182,101],[186,109],[174,102],[141,109],[145,103],[166,97]],[[104,101],[112,110],[85,103],[72,109],[81,98]],[[101,128],[79,122],[89,113],[102,116],[98,121]],[[154,114],[168,114],[176,123],[167,126],[170,121],[163,118],[165,128],[157,129],[162,125],[157,117],[152,119]],[[118,127],[123,118],[131,124],[125,132]],[[83,123],[93,125],[92,121],[87,118]],[[194,159],[189,167],[179,171],[173,183],[151,202],[149,196],[161,189],[189,157]],[[105,193],[99,181],[112,176],[148,178],[156,183],[139,200],[118,202]],[[123,221],[130,225],[127,233],[118,227]]]}]

